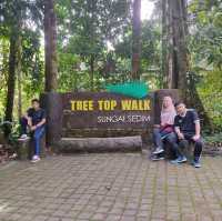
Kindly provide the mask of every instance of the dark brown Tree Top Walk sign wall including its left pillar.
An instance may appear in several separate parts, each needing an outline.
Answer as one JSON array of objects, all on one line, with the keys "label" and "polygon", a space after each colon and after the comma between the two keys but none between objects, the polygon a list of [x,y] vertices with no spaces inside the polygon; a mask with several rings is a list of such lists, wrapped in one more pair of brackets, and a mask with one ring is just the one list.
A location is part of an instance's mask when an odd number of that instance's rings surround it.
[{"label": "dark brown Tree Top Walk sign wall including its left pillar", "polygon": [[160,119],[164,96],[179,100],[175,89],[158,90],[142,99],[111,92],[44,93],[41,104],[48,114],[47,142],[57,145],[64,138],[140,135],[148,145],[153,124]]}]

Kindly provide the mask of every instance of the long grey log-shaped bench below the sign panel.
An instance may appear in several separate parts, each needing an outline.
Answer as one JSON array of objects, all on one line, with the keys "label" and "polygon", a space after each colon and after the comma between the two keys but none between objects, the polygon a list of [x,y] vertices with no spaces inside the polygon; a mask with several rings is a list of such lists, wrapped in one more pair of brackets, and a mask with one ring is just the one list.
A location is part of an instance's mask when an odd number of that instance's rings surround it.
[{"label": "long grey log-shaped bench below the sign panel", "polygon": [[62,138],[58,152],[131,152],[141,151],[141,135],[119,138]]}]

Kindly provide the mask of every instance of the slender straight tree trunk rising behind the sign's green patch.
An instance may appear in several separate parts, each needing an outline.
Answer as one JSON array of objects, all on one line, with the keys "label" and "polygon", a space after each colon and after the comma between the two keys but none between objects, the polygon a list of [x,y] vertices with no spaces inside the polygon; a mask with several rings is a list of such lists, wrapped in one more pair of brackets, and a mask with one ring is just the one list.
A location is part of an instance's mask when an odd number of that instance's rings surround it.
[{"label": "slender straight tree trunk rising behind the sign's green patch", "polygon": [[141,0],[133,1],[132,16],[132,79],[140,79]]}]

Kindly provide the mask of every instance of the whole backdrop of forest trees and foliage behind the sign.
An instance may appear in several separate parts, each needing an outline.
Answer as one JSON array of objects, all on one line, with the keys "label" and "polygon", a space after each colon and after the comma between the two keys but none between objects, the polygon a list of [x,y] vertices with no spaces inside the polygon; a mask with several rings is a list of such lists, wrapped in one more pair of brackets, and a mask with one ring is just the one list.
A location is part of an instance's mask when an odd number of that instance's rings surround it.
[{"label": "whole backdrop of forest trees and foliage behind the sign", "polygon": [[[141,0],[1,1],[0,117],[6,119],[11,112],[7,119],[18,119],[30,99],[50,87],[58,91],[101,91],[109,83],[140,79],[155,90],[180,88],[188,81],[183,90],[196,90],[214,129],[221,130],[222,2],[150,2],[154,6],[152,16],[138,20],[144,11]],[[176,11],[172,2],[181,2],[184,10]],[[179,18],[175,21],[173,13]],[[176,30],[178,22],[184,30]],[[170,30],[175,31],[173,37]],[[170,43],[174,38],[175,46]],[[51,47],[50,54],[47,47]],[[178,77],[172,78],[182,79],[178,83],[168,78],[171,51],[178,53]],[[50,57],[51,77],[46,74]],[[132,58],[139,60],[137,70]],[[46,86],[47,78],[51,78],[51,86]]]}]

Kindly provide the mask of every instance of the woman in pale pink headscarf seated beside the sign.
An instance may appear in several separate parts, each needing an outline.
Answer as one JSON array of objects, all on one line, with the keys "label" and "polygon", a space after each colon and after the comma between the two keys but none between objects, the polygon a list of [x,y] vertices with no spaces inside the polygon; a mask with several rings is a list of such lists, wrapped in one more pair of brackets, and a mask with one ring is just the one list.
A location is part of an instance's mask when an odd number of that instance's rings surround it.
[{"label": "woman in pale pink headscarf seated beside the sign", "polygon": [[153,143],[155,150],[151,157],[152,160],[164,159],[161,153],[164,152],[163,141],[171,145],[176,142],[175,134],[173,134],[174,117],[176,115],[175,108],[171,97],[164,97],[160,117],[160,125],[155,124],[153,130]]}]

